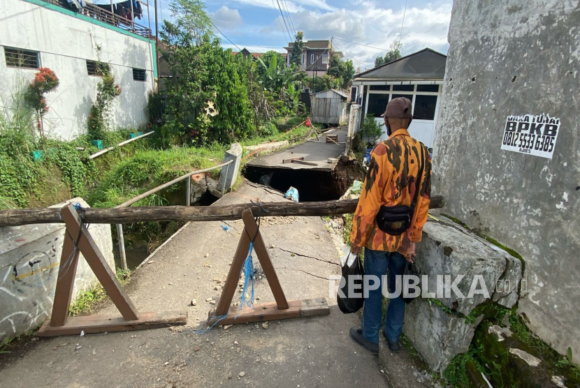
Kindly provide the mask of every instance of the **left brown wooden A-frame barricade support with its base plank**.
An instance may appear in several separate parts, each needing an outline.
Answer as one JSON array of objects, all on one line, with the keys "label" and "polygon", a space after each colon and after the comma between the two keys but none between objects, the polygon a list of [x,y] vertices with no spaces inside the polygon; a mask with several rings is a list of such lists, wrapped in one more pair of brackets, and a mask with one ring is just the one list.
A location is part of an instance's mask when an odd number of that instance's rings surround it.
[{"label": "left brown wooden A-frame barricade support with its base plank", "polygon": [[[61,336],[69,334],[102,333],[105,331],[125,331],[169,327],[187,323],[187,312],[171,311],[166,313],[139,313],[131,299],[125,294],[117,281],[115,272],[107,264],[103,254],[91,234],[82,225],[80,216],[72,204],[61,209],[61,217],[66,225],[64,244],[57,278],[55,302],[52,315],[38,330],[38,336]],[[78,249],[75,243],[78,239]],[[68,318],[73,285],[78,265],[79,253],[85,257],[110,299],[119,309],[117,315],[88,315]]]}]

